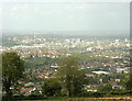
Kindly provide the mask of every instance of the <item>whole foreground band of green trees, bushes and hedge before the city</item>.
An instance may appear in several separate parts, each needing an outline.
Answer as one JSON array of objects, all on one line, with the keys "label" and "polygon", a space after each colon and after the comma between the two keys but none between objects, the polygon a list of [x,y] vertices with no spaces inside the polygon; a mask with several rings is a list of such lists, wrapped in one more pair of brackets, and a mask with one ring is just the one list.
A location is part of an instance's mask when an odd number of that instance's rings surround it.
[{"label": "whole foreground band of green trees, bushes and hedge before the city", "polygon": [[[35,100],[35,99],[68,99],[68,98],[105,98],[105,97],[131,97],[132,75],[122,76],[123,89],[112,89],[111,83],[100,85],[97,92],[85,89],[89,79],[78,66],[77,57],[61,58],[57,65],[58,71],[54,78],[48,78],[42,83],[42,93],[33,92],[31,96],[14,96],[19,89],[18,80],[24,79],[24,61],[16,53],[2,54],[2,83],[3,101],[10,100]],[[127,77],[127,78],[125,78]],[[13,87],[13,90],[11,89]]]}]

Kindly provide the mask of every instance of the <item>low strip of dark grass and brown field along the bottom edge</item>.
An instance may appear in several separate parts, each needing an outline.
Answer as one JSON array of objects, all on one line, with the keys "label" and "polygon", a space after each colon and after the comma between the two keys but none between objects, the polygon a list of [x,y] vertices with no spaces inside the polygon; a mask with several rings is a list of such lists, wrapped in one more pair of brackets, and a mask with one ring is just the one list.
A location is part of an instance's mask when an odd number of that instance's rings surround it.
[{"label": "low strip of dark grass and brown field along the bottom edge", "polygon": [[[98,93],[98,94],[97,94]],[[99,100],[102,99],[102,101],[131,101],[132,100],[132,96],[130,96],[130,92],[128,92],[129,94],[103,94],[101,93],[102,97],[100,97],[99,92],[96,93],[90,93],[87,97],[43,97],[43,96],[30,96],[30,97],[12,97],[11,99],[7,99],[6,97],[3,97],[2,101],[32,101],[32,100],[38,100],[38,101],[43,101],[43,100],[63,100],[63,101],[67,101],[70,99],[70,101],[95,101],[95,100]],[[131,92],[132,93],[132,92]],[[106,99],[106,100],[105,100]],[[101,101],[101,100],[100,100]]]}]

